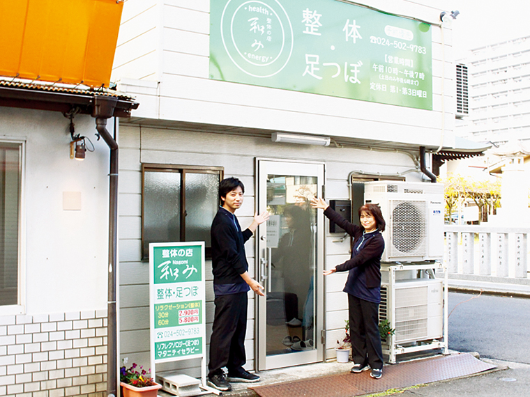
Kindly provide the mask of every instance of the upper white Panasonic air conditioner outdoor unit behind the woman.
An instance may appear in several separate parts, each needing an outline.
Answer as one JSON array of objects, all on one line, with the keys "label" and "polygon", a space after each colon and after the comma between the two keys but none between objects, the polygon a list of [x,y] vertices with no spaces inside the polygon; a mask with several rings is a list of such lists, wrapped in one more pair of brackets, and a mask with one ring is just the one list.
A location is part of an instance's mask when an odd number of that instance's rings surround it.
[{"label": "upper white Panasonic air conditioner outdoor unit behind the woman", "polygon": [[365,182],[365,203],[379,205],[386,221],[384,262],[441,260],[444,256],[444,185]]}]

